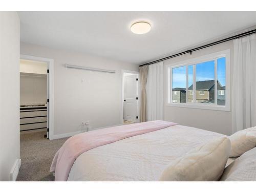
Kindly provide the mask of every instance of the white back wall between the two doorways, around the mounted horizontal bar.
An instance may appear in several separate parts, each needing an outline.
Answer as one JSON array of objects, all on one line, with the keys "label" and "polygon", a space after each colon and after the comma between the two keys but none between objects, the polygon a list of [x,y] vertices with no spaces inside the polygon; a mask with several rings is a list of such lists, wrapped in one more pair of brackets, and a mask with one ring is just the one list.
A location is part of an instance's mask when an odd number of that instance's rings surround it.
[{"label": "white back wall between the two doorways, around the mounted horizontal bar", "polygon": [[[80,131],[81,122],[87,120],[92,129],[122,123],[121,69],[138,71],[138,65],[24,42],[20,53],[54,59],[55,138]],[[67,69],[65,63],[116,73]]]}]

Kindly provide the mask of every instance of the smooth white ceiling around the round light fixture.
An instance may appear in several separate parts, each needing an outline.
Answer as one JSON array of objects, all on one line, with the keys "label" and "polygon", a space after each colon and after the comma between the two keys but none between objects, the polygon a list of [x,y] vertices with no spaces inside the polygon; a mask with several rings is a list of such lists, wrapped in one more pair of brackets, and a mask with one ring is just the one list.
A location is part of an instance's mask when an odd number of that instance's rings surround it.
[{"label": "smooth white ceiling around the round light fixture", "polygon": [[[141,64],[256,25],[254,12],[18,12],[20,40]],[[152,30],[134,34],[146,20]]]}]

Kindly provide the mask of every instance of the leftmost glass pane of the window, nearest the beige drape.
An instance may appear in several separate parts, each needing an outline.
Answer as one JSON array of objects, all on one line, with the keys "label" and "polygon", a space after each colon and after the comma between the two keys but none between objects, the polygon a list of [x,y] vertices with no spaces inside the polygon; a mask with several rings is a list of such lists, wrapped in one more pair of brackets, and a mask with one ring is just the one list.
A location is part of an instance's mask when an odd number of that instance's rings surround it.
[{"label": "leftmost glass pane of the window, nearest the beige drape", "polygon": [[[186,66],[172,69],[172,102],[186,102]],[[177,93],[177,94],[175,94]]]}]

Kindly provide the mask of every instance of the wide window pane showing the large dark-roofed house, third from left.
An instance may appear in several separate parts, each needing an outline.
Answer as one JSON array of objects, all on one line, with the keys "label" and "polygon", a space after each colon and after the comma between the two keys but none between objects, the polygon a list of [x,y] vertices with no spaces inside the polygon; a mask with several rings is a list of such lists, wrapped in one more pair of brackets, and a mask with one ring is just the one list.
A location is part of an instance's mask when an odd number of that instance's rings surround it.
[{"label": "wide window pane showing the large dark-roofed house, third from left", "polygon": [[215,61],[196,65],[196,102],[215,103]]}]

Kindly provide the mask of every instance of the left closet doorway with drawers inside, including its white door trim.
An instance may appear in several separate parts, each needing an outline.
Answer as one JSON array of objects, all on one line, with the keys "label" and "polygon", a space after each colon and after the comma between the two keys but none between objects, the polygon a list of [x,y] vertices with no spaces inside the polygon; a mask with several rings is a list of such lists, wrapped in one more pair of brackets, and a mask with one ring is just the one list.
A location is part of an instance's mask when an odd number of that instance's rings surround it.
[{"label": "left closet doorway with drawers inside, including its white door trim", "polygon": [[53,139],[52,69],[52,59],[20,55],[20,134]]}]

